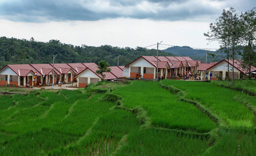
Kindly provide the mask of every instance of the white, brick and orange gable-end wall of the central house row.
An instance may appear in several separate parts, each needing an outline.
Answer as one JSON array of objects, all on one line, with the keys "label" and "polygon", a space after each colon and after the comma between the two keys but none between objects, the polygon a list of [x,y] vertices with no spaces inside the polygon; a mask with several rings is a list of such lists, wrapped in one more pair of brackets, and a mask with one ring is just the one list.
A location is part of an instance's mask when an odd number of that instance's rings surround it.
[{"label": "white, brick and orange gable-end wall of the central house row", "polygon": [[[141,73],[138,73],[138,67],[141,67]],[[143,73],[143,68],[146,67],[146,73]],[[147,73],[147,68],[150,74]],[[152,72],[153,69],[154,71]],[[136,74],[140,74],[144,79],[154,79],[156,77],[156,68],[152,66],[149,62],[144,60],[144,58],[140,58],[137,61],[131,63],[129,65],[129,77],[136,78]]]}]

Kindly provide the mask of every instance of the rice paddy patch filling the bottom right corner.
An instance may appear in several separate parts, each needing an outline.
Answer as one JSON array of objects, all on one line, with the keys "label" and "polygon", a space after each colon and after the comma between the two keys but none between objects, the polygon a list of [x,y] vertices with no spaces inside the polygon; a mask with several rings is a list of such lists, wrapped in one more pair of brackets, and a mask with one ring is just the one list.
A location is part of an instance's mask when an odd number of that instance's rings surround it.
[{"label": "rice paddy patch filling the bottom right corner", "polygon": [[256,131],[252,128],[220,128],[219,140],[207,150],[205,156],[255,155]]}]

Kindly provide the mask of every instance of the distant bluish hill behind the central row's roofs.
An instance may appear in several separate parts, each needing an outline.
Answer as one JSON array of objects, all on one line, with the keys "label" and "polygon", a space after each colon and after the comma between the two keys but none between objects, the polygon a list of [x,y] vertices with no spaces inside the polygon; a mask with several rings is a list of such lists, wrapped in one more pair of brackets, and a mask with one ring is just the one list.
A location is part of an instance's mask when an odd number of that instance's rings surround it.
[{"label": "distant bluish hill behind the central row's roofs", "polygon": [[[174,56],[189,56],[191,57],[193,60],[201,60],[202,62],[205,62],[206,60],[206,51],[203,49],[193,49],[189,46],[173,46],[170,48],[167,48],[164,50],[165,52],[170,52],[172,53]],[[215,51],[208,51],[209,53],[216,53]],[[223,59],[225,59],[225,54],[223,52],[218,52],[216,53],[217,55],[215,57],[212,57],[210,55],[207,56],[207,62],[214,62],[217,61],[221,61]]]}]

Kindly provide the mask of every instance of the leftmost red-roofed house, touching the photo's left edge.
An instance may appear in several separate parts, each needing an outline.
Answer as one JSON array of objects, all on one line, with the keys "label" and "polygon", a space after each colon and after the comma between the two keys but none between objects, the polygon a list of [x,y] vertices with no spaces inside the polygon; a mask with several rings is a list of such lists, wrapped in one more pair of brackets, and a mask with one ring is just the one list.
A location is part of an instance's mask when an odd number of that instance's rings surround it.
[{"label": "leftmost red-roofed house, touching the photo's left edge", "polygon": [[[33,79],[36,74],[35,80]],[[29,85],[36,85],[37,76],[41,76],[40,73],[28,64],[22,65],[6,65],[0,70],[0,85],[15,85],[25,86],[27,81]]]}]

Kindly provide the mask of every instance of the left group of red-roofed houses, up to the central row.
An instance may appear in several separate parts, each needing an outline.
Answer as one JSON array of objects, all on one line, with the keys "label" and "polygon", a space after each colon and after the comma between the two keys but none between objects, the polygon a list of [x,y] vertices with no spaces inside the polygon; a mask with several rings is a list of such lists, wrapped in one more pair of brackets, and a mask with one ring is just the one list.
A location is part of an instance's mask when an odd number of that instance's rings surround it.
[{"label": "left group of red-roofed houses, up to the central row", "polygon": [[[123,77],[124,66],[111,66],[111,72],[104,73],[106,80]],[[0,85],[26,86],[52,84],[62,82],[78,82],[78,87],[85,87],[90,82],[101,81],[101,76],[96,74],[96,63],[55,63],[54,77],[52,77],[53,65],[45,64],[21,64],[6,65],[0,70]],[[86,77],[84,77],[86,75]],[[80,81],[79,81],[80,80]]]}]

